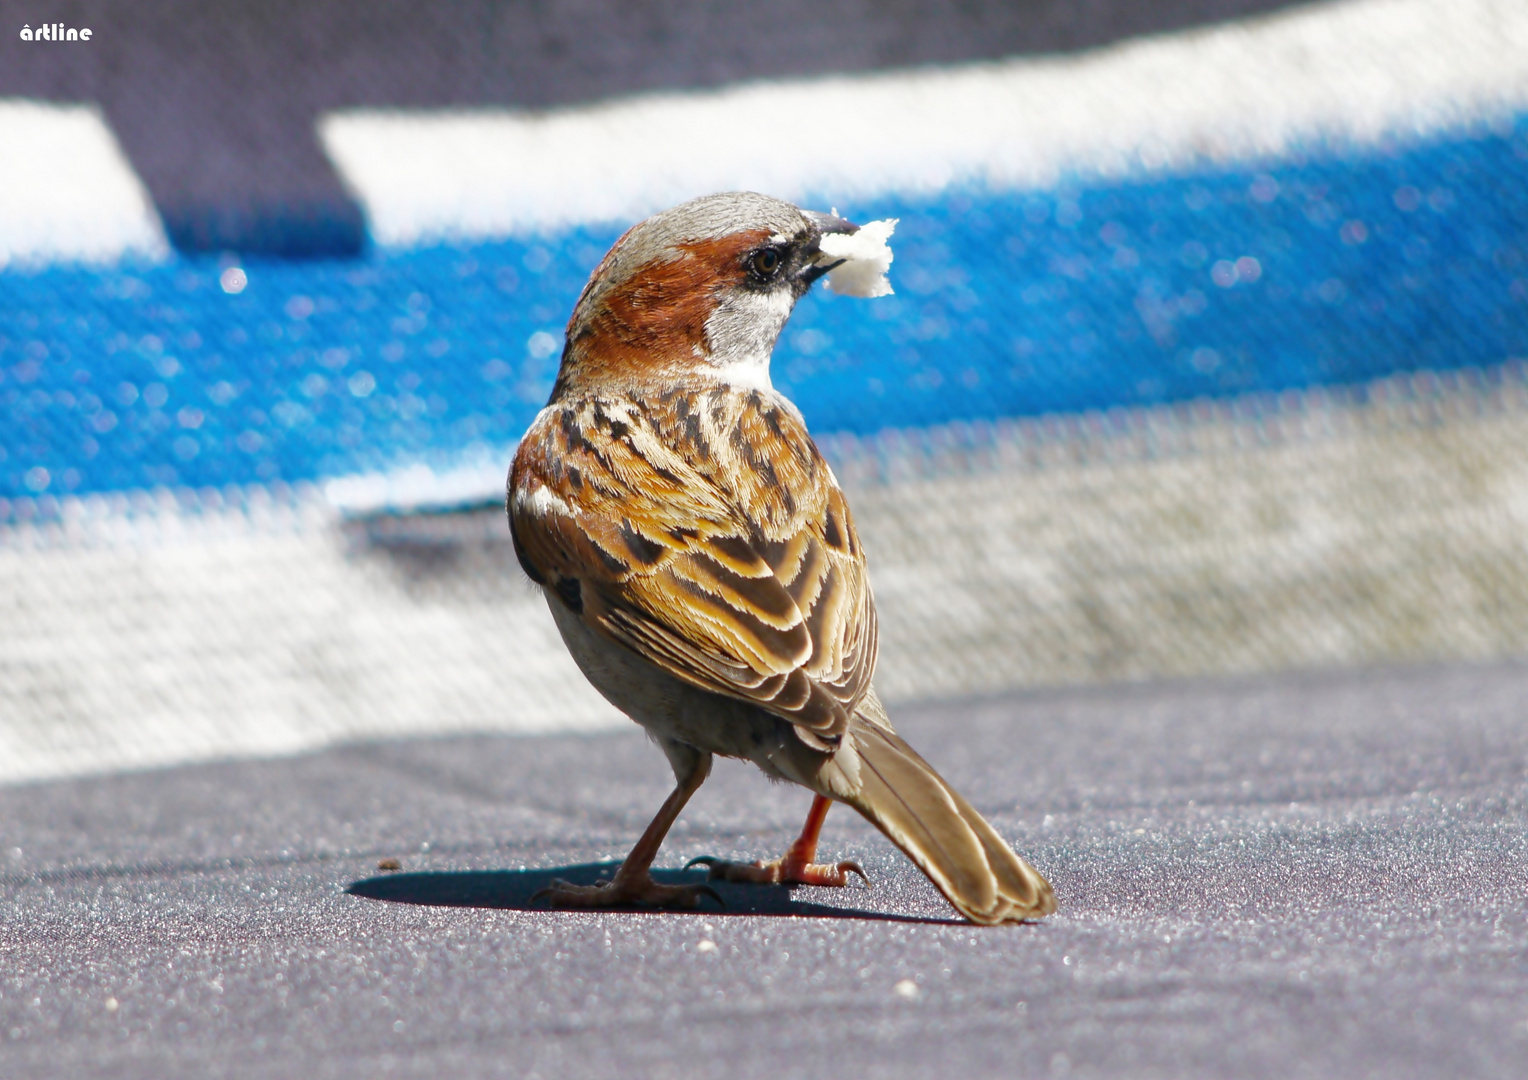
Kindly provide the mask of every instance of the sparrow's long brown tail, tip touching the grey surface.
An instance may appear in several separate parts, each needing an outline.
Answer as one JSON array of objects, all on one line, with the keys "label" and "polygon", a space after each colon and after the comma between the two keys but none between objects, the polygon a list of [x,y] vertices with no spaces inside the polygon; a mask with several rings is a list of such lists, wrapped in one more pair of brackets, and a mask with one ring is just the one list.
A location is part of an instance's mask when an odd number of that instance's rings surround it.
[{"label": "sparrow's long brown tail, tip touching the grey surface", "polygon": [[1050,883],[1002,842],[895,732],[856,715],[859,791],[847,802],[918,865],[972,923],[1018,923],[1056,910]]}]

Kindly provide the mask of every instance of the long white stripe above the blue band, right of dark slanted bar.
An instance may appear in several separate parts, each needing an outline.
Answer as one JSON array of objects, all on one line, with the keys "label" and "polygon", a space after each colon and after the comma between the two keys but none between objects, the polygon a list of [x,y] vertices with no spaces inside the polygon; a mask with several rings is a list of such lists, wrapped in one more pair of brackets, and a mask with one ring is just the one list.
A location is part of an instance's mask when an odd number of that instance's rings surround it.
[{"label": "long white stripe above the blue band, right of dark slanted bar", "polygon": [[697,194],[1039,188],[1528,108],[1523,0],[1349,0],[1067,57],[668,93],[544,113],[339,112],[377,243],[631,221]]}]

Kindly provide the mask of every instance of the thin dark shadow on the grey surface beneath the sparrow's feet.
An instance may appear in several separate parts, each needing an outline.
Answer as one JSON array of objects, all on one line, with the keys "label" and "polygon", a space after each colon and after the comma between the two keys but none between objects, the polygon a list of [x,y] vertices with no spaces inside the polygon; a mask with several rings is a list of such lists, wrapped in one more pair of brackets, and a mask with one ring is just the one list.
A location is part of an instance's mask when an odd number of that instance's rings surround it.
[{"label": "thin dark shadow on the grey surface beneath the sparrow's feet", "polygon": [[[420,871],[414,874],[379,874],[351,883],[345,892],[368,900],[388,900],[396,904],[425,904],[429,907],[494,907],[500,910],[547,912],[552,910],[536,894],[561,878],[571,884],[594,884],[614,875],[619,862],[579,863],[527,871]],[[958,920],[900,915],[895,912],[868,910],[863,907],[839,907],[816,904],[795,898],[795,889],[778,884],[738,884],[732,881],[706,881],[704,871],[652,871],[652,878],[662,884],[711,884],[721,897],[721,904],[701,900],[697,909],[677,913],[689,915],[788,915],[796,918],[848,918],[877,920],[886,923],[934,923],[946,924]],[[611,909],[651,910],[651,909]],[[675,913],[663,909],[665,913]]]}]

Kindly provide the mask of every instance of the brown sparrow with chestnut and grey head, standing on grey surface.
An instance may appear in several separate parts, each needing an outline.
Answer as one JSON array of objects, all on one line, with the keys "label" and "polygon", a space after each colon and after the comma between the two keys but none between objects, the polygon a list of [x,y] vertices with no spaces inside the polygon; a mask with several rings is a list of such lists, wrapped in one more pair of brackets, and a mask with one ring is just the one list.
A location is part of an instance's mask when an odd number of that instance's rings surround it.
[{"label": "brown sparrow with chestnut and grey head, standing on grey surface", "polygon": [[778,859],[692,860],[707,881],[863,878],[853,860],[817,862],[842,802],[972,923],[1056,909],[1050,883],[888,718],[848,501],[770,382],[796,301],[843,263],[824,246],[857,231],[770,196],[704,196],[628,229],[573,307],[550,400],[506,481],[510,539],[578,668],[663,750],[675,787],[611,878],[553,881],[541,894],[553,907],[720,900],[651,875],[720,755],[813,802]]}]

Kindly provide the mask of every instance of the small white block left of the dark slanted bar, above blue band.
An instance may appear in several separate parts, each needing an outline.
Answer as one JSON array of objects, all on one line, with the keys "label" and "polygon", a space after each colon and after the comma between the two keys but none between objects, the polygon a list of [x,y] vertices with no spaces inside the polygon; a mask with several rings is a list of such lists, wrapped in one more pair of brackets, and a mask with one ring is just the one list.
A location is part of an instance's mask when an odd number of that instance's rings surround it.
[{"label": "small white block left of the dark slanted bar, above blue band", "polygon": [[170,254],[138,174],[92,105],[0,99],[0,269]]}]

